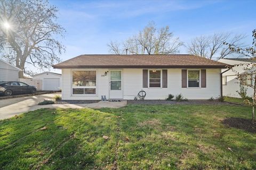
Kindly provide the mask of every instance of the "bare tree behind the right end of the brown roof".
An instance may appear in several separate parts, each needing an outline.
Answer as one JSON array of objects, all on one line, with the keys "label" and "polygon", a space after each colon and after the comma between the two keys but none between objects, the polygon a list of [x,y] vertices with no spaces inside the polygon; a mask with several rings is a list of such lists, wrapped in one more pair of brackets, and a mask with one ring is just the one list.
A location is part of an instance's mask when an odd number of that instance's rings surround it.
[{"label": "bare tree behind the right end of the brown roof", "polygon": [[233,36],[231,33],[214,33],[212,36],[195,37],[188,45],[188,52],[209,59],[221,59],[235,53],[223,45],[225,41],[234,46],[242,46],[243,43],[241,41],[244,38],[245,35]]}]

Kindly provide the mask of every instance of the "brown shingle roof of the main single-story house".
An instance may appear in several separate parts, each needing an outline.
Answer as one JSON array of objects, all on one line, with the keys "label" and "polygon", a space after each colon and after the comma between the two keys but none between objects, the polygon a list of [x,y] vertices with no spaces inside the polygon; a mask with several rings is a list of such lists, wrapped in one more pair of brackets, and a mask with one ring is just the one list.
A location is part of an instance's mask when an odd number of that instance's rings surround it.
[{"label": "brown shingle roof of the main single-story house", "polygon": [[79,55],[54,65],[62,68],[159,68],[159,67],[214,67],[224,68],[227,64],[195,55]]}]

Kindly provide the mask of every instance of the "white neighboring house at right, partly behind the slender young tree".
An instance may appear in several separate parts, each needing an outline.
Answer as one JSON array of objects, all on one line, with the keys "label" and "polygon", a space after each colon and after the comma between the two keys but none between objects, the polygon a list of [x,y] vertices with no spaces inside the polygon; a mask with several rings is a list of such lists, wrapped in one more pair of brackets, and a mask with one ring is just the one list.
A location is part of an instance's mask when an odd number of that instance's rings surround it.
[{"label": "white neighboring house at right, partly behind the slender young tree", "polygon": [[[238,72],[239,74],[243,74],[245,72],[244,67],[252,67],[252,61],[250,58],[225,58],[220,59],[219,62],[226,63],[229,65],[236,65],[236,64],[246,64],[246,65],[240,65],[240,66],[234,66],[233,70]],[[227,69],[222,69],[222,72],[226,71]],[[237,80],[236,72],[233,70],[229,70],[222,74],[222,88],[223,88],[223,96],[229,96],[229,97],[238,97],[239,96],[237,91],[240,91],[240,81]],[[246,84],[253,83],[251,80],[247,80]],[[252,96],[253,95],[253,89],[251,87],[247,88],[247,95]]]}]

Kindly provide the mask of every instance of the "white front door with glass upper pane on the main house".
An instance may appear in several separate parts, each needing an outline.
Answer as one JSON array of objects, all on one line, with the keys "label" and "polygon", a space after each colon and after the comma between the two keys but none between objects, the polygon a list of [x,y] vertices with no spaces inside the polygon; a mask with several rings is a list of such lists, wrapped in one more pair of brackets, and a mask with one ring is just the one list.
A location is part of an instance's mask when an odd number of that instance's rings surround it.
[{"label": "white front door with glass upper pane on the main house", "polygon": [[110,99],[122,99],[123,98],[123,87],[122,87],[122,71],[121,70],[110,70]]}]

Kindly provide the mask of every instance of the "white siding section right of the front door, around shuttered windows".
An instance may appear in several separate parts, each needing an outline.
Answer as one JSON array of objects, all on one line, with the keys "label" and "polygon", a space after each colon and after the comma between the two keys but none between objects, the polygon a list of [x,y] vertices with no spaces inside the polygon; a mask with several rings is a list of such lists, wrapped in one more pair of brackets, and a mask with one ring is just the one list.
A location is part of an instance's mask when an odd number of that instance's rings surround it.
[{"label": "white siding section right of the front door, around shuttered windows", "polygon": [[182,94],[188,99],[220,96],[220,69],[206,69],[206,88],[181,88],[181,69],[168,69],[167,88],[142,88],[142,69],[124,69],[124,99],[133,99],[143,89],[145,99],[166,99],[168,94]]}]

